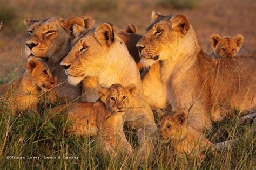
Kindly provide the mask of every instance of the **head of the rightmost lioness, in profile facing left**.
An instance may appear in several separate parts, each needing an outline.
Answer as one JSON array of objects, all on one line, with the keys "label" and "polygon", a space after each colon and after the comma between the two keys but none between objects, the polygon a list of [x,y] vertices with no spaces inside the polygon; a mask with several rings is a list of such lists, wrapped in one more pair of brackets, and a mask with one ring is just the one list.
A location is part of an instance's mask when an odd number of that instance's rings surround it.
[{"label": "head of the rightmost lioness, in profile facing left", "polygon": [[176,61],[180,55],[200,51],[198,39],[186,16],[163,16],[153,11],[152,19],[146,34],[136,45],[144,66],[170,59],[170,56]]}]

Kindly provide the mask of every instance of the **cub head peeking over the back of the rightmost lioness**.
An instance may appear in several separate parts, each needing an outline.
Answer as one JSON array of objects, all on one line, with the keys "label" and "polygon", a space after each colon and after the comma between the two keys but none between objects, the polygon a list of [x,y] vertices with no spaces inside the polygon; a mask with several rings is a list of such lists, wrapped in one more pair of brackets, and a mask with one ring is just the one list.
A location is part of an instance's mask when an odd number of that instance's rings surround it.
[{"label": "cub head peeking over the back of the rightmost lioness", "polygon": [[223,36],[222,38],[218,34],[212,34],[210,36],[210,44],[213,49],[212,56],[217,58],[234,57],[244,42],[244,37],[241,34],[231,38],[229,36]]}]

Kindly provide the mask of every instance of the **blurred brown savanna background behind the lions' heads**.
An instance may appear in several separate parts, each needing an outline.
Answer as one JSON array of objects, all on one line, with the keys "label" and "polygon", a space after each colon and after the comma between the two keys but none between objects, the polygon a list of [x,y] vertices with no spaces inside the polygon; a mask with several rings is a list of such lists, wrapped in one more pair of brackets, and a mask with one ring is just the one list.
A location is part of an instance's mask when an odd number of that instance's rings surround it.
[{"label": "blurred brown savanna background behind the lions' heads", "polygon": [[0,0],[0,82],[20,72],[25,63],[26,18],[53,16],[68,18],[89,15],[97,23],[123,27],[133,23],[143,34],[152,10],[163,15],[183,13],[191,20],[205,52],[210,53],[208,37],[213,33],[245,37],[241,52],[256,45],[256,3],[254,0]]}]

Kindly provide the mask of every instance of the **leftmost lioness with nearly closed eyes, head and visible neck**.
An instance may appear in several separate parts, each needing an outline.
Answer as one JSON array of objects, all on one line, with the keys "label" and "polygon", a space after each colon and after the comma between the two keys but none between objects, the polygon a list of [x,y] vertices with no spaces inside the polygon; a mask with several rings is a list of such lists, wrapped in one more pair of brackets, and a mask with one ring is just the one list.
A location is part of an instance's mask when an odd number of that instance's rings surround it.
[{"label": "leftmost lioness with nearly closed eyes, head and visible neck", "polygon": [[[52,17],[42,20],[26,19],[24,23],[29,27],[29,38],[25,45],[25,54],[28,58],[36,56],[47,58],[53,68],[53,74],[58,77],[58,84],[54,90],[63,102],[76,100],[81,94],[80,86],[73,87],[67,82],[65,71],[60,67],[60,62],[68,54],[73,38],[71,35],[72,26],[78,24],[90,28],[93,25],[90,17],[71,17],[66,20]],[[87,23],[88,25],[85,25]]]}]

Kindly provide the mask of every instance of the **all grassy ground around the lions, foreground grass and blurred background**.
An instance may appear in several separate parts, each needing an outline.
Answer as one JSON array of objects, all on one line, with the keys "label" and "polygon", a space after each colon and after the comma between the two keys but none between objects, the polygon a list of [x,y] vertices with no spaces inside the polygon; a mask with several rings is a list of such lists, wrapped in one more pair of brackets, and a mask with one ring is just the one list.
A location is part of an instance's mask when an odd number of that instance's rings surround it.
[{"label": "all grassy ground around the lions, foreground grass and blurred background", "polygon": [[[188,0],[186,0],[188,1]],[[60,16],[90,15],[97,23],[110,22],[122,27],[134,23],[138,33],[143,34],[150,22],[153,9],[167,15],[184,13],[191,19],[199,40],[206,52],[210,52],[208,37],[212,33],[235,36],[241,33],[245,37],[241,51],[252,51],[256,45],[255,15],[256,3],[253,0],[209,0],[191,1],[33,1],[33,0],[0,0],[0,84],[12,80],[24,69],[26,58],[23,55],[26,28],[22,23],[25,18],[46,18]],[[6,3],[8,2],[8,3]],[[138,17],[139,16],[139,17]],[[152,153],[153,162],[139,164],[137,159],[110,159],[104,157],[96,138],[78,138],[69,136],[69,128],[65,116],[57,119],[48,115],[48,105],[42,104],[41,115],[26,112],[21,117],[9,118],[9,103],[0,102],[0,158],[1,169],[176,169],[183,164],[177,158],[166,164],[166,153],[172,153],[169,146],[160,141],[156,153]],[[125,128],[134,147],[137,139],[134,132]],[[206,158],[200,169],[255,169],[256,168],[256,137],[255,130],[250,131],[249,125],[238,124],[237,118],[226,119],[215,123],[212,131],[206,133],[213,143],[239,139],[232,147],[225,148],[213,155],[205,153]],[[14,157],[24,157],[16,159]],[[30,157],[38,157],[29,159]],[[63,157],[78,157],[64,159]],[[10,157],[7,159],[7,157]],[[45,157],[45,158],[44,158]],[[49,157],[56,157],[49,159]],[[196,162],[191,162],[196,169]]]}]

